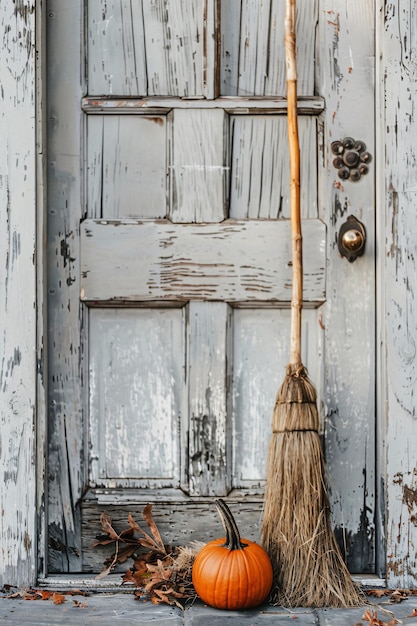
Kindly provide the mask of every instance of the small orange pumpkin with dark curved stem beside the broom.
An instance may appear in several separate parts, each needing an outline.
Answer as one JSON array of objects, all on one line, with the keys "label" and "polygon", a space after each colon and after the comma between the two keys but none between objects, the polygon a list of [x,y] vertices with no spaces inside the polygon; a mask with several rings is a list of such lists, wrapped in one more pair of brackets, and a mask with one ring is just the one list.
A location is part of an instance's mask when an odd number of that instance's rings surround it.
[{"label": "small orange pumpkin with dark curved stem beside the broom", "polygon": [[230,509],[216,500],[226,538],[207,543],[197,554],[192,571],[194,588],[203,602],[216,609],[250,609],[271,590],[272,565],[265,550],[241,539]]}]

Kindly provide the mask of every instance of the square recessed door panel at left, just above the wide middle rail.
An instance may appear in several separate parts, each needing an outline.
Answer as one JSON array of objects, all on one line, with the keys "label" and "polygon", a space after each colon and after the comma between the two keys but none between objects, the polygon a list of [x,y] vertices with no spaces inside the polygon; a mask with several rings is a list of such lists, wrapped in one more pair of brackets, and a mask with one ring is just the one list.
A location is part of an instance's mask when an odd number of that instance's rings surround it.
[{"label": "square recessed door panel at left, just above the wide middle rail", "polygon": [[166,117],[89,116],[87,129],[88,216],[165,217]]}]

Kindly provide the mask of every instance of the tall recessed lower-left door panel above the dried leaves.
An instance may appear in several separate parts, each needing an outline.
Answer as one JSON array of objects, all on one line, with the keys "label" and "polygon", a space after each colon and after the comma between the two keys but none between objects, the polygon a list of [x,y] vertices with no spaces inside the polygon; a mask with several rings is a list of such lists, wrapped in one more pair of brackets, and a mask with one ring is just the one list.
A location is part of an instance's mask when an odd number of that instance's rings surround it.
[{"label": "tall recessed lower-left door panel above the dried leaves", "polygon": [[178,487],[182,309],[90,309],[90,484]]}]

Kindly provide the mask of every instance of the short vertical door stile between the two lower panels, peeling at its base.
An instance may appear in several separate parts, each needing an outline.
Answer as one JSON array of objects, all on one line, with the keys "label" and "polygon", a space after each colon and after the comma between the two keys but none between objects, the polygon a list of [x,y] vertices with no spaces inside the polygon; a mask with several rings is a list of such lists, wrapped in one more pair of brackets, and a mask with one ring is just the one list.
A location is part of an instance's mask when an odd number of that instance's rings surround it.
[{"label": "short vertical door stile between the two lower panels, peeling at its base", "polygon": [[227,378],[230,311],[223,302],[189,304],[189,491],[227,494]]}]

